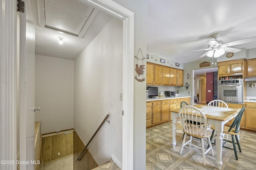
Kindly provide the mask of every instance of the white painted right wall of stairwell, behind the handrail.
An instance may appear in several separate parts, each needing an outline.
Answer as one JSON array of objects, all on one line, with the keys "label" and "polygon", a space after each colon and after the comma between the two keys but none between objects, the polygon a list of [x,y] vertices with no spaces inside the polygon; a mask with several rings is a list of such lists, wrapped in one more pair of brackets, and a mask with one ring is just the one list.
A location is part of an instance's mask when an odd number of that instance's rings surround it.
[{"label": "white painted right wall of stairwell, behind the handrail", "polygon": [[122,22],[113,19],[75,59],[74,129],[98,165],[112,155],[122,162]]}]

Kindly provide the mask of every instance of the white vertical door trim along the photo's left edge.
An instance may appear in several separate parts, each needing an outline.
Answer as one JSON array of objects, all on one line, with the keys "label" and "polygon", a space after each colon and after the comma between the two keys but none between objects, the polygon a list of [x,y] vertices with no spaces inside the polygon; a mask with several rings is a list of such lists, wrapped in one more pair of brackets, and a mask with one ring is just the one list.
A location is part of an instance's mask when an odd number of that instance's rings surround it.
[{"label": "white vertical door trim along the photo's left edge", "polygon": [[[16,15],[17,0],[1,0],[0,18],[0,160],[17,160]],[[1,168],[3,167],[3,168]],[[0,169],[16,170],[16,164]]]}]

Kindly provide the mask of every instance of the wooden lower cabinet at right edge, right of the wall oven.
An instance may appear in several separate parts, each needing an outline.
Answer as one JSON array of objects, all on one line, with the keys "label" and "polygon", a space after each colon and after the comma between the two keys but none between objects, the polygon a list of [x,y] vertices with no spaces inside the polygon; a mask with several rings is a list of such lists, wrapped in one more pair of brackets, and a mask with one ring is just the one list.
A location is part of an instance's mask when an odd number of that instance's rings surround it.
[{"label": "wooden lower cabinet at right edge, right of the wall oven", "polygon": [[246,129],[256,130],[256,103],[245,102],[245,127]]}]

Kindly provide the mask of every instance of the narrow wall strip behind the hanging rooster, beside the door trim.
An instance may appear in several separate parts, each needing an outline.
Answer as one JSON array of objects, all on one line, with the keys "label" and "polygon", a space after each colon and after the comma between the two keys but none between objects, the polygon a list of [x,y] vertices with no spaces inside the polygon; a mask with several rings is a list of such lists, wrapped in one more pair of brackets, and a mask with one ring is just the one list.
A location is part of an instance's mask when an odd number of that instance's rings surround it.
[{"label": "narrow wall strip behind the hanging rooster, beside the door trim", "polygon": [[[147,0],[114,0],[134,12],[134,55],[141,49],[146,57]],[[134,59],[135,69],[136,59]],[[144,70],[146,76],[146,69]],[[136,72],[134,71],[134,75]],[[146,81],[134,79],[134,170],[146,169]]]}]

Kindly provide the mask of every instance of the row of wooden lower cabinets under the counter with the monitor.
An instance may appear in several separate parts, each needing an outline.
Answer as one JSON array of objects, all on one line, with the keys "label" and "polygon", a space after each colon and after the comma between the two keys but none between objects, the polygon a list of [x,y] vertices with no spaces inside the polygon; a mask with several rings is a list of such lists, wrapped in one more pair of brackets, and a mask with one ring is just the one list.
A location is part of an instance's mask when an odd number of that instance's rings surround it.
[{"label": "row of wooden lower cabinets under the counter with the monitor", "polygon": [[190,103],[190,97],[179,99],[163,99],[146,102],[146,127],[158,125],[171,121],[170,110],[180,108],[180,103],[186,101]]}]

